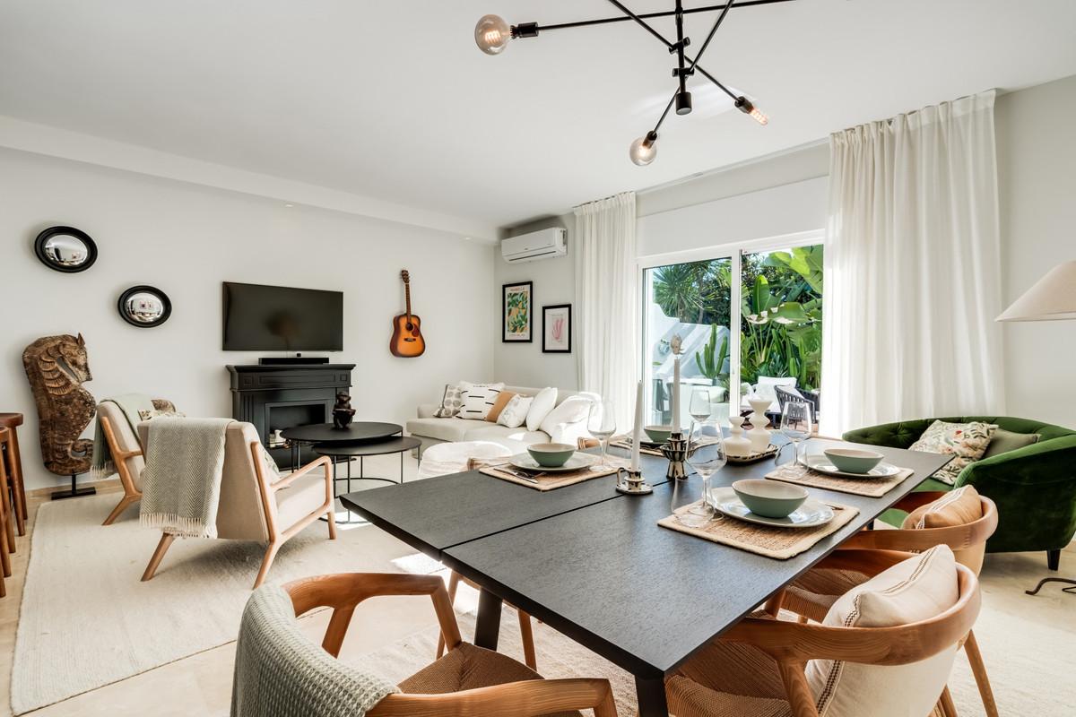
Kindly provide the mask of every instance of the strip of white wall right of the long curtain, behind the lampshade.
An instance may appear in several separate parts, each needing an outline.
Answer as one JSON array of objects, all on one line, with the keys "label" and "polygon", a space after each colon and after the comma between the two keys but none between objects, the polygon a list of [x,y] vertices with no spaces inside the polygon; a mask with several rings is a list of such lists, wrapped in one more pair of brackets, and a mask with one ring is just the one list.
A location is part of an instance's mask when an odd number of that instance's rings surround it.
[{"label": "strip of white wall right of the long curtain, behind the lampshade", "polygon": [[[995,105],[1008,305],[1076,259],[1076,76],[1003,95]],[[1006,412],[1076,427],[1076,321],[1005,325]]]}]

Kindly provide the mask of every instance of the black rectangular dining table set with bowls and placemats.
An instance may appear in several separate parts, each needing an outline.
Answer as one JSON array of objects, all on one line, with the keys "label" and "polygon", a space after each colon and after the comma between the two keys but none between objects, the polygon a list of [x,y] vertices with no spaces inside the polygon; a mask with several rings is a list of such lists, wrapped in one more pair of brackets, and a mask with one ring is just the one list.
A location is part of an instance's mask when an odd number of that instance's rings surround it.
[{"label": "black rectangular dining table set with bowls and placemats", "polygon": [[[854,445],[811,439],[807,450],[835,444]],[[660,527],[660,519],[702,494],[695,475],[666,481],[668,462],[660,457],[641,457],[643,476],[654,486],[648,496],[617,492],[614,476],[542,492],[469,471],[341,500],[481,587],[476,645],[497,648],[501,602],[508,601],[632,673],[640,717],[666,717],[667,675],[951,460],[864,447],[914,473],[881,498],[808,488],[813,498],[859,514],[788,560]],[[773,470],[771,459],[730,463],[711,486]]]}]

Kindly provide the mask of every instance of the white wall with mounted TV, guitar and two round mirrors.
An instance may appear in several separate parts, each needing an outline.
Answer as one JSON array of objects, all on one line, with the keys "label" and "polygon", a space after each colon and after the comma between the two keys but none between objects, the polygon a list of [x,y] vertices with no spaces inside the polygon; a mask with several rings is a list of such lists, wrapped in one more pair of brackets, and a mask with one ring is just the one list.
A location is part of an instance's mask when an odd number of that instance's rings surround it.
[{"label": "white wall with mounted TV, guitar and two round mirrors", "polygon": [[[97,263],[80,274],[41,264],[33,239],[54,225],[88,232]],[[344,292],[344,350],[330,357],[356,364],[358,419],[404,422],[445,382],[493,374],[494,248],[445,232],[0,149],[0,411],[27,416],[19,438],[28,488],[62,479],[41,463],[26,345],[82,332],[94,374],[85,387],[98,400],[140,391],[188,415],[227,416],[224,367],[256,362],[258,353],[221,350],[223,281]],[[388,352],[404,305],[400,269],[411,273],[428,345],[416,359]],[[136,284],[169,295],[166,324],[138,329],[119,318],[116,299]]]}]

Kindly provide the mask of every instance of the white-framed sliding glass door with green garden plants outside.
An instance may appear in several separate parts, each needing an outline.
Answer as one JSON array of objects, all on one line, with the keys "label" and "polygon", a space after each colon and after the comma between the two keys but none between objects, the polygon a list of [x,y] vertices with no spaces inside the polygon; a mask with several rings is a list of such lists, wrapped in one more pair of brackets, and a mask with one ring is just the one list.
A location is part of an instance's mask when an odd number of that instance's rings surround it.
[{"label": "white-framed sliding glass door with green garden plants outside", "polygon": [[[683,260],[677,260],[682,256]],[[643,260],[642,376],[648,424],[672,422],[672,345],[681,346],[680,421],[705,390],[711,418],[749,395],[816,405],[822,371],[820,232]],[[735,327],[735,330],[733,329]]]}]

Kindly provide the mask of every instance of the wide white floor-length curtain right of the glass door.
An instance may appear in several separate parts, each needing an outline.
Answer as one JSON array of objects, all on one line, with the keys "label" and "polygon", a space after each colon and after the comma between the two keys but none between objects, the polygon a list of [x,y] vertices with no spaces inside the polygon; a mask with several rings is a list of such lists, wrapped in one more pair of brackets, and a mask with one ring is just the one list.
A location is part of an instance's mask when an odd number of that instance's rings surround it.
[{"label": "wide white floor-length curtain right of the glass door", "polygon": [[994,92],[831,137],[822,431],[1004,413]]}]

